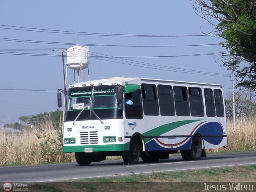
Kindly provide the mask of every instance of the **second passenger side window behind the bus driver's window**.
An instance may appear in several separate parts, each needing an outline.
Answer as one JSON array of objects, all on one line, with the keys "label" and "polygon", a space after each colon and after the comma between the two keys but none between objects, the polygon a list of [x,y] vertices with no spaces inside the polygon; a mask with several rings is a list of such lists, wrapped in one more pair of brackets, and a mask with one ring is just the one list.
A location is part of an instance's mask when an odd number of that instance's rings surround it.
[{"label": "second passenger side window behind the bus driver's window", "polygon": [[171,86],[158,85],[158,100],[162,116],[174,116],[174,98]]}]

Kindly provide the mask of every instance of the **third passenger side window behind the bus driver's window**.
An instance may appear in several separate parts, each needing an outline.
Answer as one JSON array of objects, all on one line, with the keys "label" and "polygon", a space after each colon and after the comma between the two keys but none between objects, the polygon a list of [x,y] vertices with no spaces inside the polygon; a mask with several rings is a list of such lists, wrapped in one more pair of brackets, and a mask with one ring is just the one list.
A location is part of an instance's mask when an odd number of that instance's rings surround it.
[{"label": "third passenger side window behind the bus driver's window", "polygon": [[174,86],[175,111],[178,116],[189,116],[188,90],[186,87]]}]

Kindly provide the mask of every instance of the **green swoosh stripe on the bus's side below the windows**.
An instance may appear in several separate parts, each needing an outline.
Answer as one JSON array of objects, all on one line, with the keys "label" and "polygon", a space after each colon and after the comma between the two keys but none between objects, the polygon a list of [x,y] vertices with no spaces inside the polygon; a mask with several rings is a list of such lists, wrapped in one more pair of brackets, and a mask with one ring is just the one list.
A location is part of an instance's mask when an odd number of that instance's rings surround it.
[{"label": "green swoosh stripe on the bus's side below the windows", "polygon": [[[178,127],[190,124],[190,123],[194,123],[197,121],[202,121],[202,119],[197,119],[197,120],[184,120],[184,121],[177,121],[177,122],[172,122],[172,123],[168,123],[159,127],[156,127],[152,130],[149,130],[145,133],[142,134],[142,136],[154,136],[154,135],[162,135],[166,132],[169,132],[171,130],[174,130]],[[144,138],[145,143],[152,140],[152,138]]]}]

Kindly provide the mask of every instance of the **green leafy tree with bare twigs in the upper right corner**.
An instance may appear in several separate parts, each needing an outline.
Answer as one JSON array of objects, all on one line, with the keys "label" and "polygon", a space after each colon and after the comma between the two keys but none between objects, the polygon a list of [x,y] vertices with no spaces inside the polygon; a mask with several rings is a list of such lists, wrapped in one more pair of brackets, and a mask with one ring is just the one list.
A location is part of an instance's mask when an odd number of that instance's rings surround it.
[{"label": "green leafy tree with bare twigs in the upper right corner", "polygon": [[225,66],[234,70],[237,86],[256,90],[256,0],[191,0],[196,14],[215,26],[225,39],[230,57]]}]

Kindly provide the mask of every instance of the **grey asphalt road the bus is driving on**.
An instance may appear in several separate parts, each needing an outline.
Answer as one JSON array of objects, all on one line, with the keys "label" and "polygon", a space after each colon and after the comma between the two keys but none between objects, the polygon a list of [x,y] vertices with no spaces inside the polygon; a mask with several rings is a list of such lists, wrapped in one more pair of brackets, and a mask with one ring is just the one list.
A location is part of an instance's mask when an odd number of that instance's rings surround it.
[{"label": "grey asphalt road the bus is driving on", "polygon": [[79,166],[77,163],[11,166],[0,167],[0,185],[5,182],[54,182],[250,164],[256,164],[256,152],[208,154],[198,161],[183,161],[180,156],[176,156],[157,163],[144,163],[140,160],[135,165],[124,165],[122,160],[106,160],[90,166]]}]

